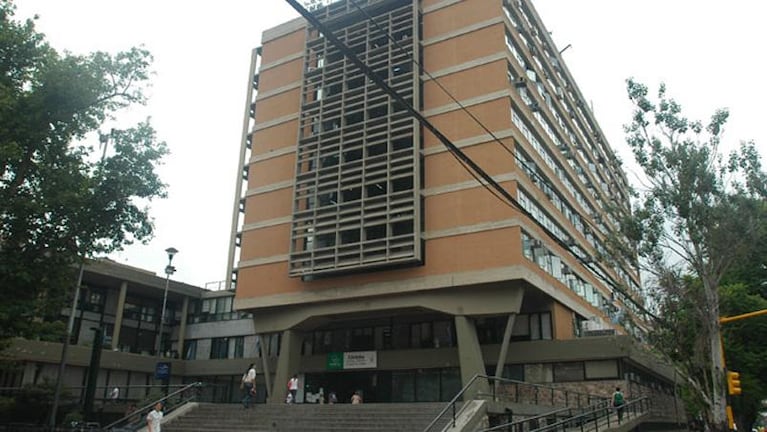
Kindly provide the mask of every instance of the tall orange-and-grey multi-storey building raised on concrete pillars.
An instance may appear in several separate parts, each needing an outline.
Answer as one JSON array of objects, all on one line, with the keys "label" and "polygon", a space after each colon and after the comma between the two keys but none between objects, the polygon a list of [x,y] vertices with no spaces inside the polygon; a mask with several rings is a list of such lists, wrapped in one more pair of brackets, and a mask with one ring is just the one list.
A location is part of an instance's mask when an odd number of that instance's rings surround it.
[{"label": "tall orange-and-grey multi-storey building raised on concrete pillars", "polygon": [[265,31],[230,274],[279,337],[275,400],[294,373],[372,401],[449,400],[485,373],[667,391],[636,344],[637,270],[603,258],[625,175],[530,1],[311,3],[519,207],[305,19]]}]

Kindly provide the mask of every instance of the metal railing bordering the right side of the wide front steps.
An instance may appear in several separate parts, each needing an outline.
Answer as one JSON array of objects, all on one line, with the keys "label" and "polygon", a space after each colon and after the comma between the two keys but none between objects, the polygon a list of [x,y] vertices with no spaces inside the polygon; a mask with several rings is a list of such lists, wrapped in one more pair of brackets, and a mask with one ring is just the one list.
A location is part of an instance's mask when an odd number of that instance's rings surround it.
[{"label": "metal railing bordering the right side of the wide front steps", "polygon": [[477,393],[475,399],[504,400],[549,406],[564,405],[565,407],[575,406],[576,408],[592,406],[610,399],[609,397],[574,392],[557,387],[477,374],[448,402],[447,406],[426,426],[423,432],[430,432],[448,413],[451,414],[452,426],[455,427],[458,414],[466,407],[464,404],[461,409],[458,409],[458,402],[462,401],[469,389],[481,380],[487,382],[490,393]]}]

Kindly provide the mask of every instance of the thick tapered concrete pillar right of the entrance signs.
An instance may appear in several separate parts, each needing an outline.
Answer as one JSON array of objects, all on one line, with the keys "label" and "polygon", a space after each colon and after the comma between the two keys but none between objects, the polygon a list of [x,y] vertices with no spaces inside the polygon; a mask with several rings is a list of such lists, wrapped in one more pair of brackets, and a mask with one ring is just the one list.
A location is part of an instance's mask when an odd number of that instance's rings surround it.
[{"label": "thick tapered concrete pillar right of the entrance signs", "polygon": [[[477,328],[474,321],[464,315],[455,317],[455,334],[458,339],[458,361],[461,365],[461,383],[469,384],[474,375],[485,375],[485,361],[482,358],[482,349],[479,346]],[[474,382],[471,388],[464,393],[464,400],[473,399],[477,393],[488,392],[486,379]]]}]

